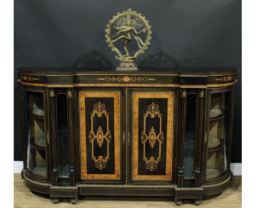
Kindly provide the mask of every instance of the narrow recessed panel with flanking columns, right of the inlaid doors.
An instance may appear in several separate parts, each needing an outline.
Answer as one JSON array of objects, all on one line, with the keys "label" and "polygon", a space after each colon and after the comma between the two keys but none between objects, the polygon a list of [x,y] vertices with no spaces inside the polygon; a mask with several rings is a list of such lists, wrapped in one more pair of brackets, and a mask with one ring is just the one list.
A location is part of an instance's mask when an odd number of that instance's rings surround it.
[{"label": "narrow recessed panel with flanking columns, right of the inlaid doors", "polygon": [[205,89],[180,89],[178,187],[201,187],[204,123]]}]

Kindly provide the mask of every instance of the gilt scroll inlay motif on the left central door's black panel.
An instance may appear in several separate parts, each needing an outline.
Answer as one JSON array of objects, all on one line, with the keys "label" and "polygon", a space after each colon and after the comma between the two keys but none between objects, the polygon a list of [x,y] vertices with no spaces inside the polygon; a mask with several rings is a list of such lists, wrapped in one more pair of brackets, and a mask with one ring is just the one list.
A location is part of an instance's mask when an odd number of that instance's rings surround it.
[{"label": "gilt scroll inlay motif on the left central door's black panel", "polygon": [[[107,166],[107,161],[110,159],[109,157],[109,143],[110,140],[112,138],[112,135],[109,131],[109,124],[108,124],[108,113],[107,110],[105,108],[105,105],[101,102],[98,102],[94,105],[94,109],[92,111],[92,113],[90,113],[91,115],[91,130],[89,133],[89,139],[90,139],[90,143],[91,143],[91,160],[94,161],[95,163],[95,167],[102,170],[104,168],[106,168]],[[101,126],[98,126],[97,132],[94,132],[94,117],[106,117],[107,118],[107,127],[106,127],[106,133],[104,133],[104,130],[102,129]],[[103,143],[107,142],[107,156],[98,156],[96,158],[96,156],[94,155],[94,141],[97,141],[98,146],[101,148],[101,146],[103,145]],[[96,145],[97,145],[96,144]]]}]

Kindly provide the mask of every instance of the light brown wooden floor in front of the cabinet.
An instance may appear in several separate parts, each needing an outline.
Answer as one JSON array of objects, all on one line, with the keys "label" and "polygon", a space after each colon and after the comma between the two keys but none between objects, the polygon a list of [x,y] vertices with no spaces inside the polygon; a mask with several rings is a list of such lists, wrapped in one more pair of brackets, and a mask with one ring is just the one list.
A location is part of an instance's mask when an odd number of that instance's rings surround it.
[{"label": "light brown wooden floor in front of the cabinet", "polygon": [[[234,208],[241,207],[242,186],[241,176],[234,176],[234,180],[228,190],[216,198],[202,201],[199,207],[211,208]],[[14,174],[14,207],[83,207],[83,208],[169,208],[177,207],[173,198],[118,198],[118,197],[79,197],[77,204],[72,205],[67,199],[59,204],[53,204],[51,200],[43,195],[32,193],[21,180],[20,174]],[[191,201],[179,207],[197,207]]]}]

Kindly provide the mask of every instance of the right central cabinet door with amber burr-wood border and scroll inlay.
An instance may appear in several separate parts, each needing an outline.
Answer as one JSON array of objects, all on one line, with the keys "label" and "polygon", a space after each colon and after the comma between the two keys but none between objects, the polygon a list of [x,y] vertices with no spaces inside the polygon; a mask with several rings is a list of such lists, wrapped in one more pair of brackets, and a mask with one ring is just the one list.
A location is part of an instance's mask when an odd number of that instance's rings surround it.
[{"label": "right central cabinet door with amber burr-wood border and scroll inlay", "polygon": [[173,179],[174,96],[172,89],[129,89],[130,182]]}]

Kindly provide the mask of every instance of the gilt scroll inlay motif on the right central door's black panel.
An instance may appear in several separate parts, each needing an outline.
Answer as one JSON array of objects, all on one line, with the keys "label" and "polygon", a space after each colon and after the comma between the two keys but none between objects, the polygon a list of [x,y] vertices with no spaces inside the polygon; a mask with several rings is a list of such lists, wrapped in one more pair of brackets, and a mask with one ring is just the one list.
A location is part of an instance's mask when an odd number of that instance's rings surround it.
[{"label": "gilt scroll inlay motif on the right central door's black panel", "polygon": [[[146,122],[147,118],[150,116],[150,118],[159,118],[159,132],[156,133],[154,127],[152,126],[150,128],[149,133],[146,132]],[[150,171],[153,171],[158,168],[158,163],[161,161],[161,144],[164,140],[164,132],[162,132],[162,114],[159,111],[159,106],[156,105],[154,102],[152,102],[151,105],[148,105],[147,112],[143,114],[144,117],[144,130],[141,135],[141,140],[143,144],[143,161],[145,161],[147,169]],[[156,141],[159,142],[159,156],[155,159],[155,157],[146,157],[146,145],[147,140],[150,145],[150,147],[153,149],[155,146]]]}]

